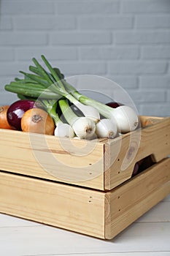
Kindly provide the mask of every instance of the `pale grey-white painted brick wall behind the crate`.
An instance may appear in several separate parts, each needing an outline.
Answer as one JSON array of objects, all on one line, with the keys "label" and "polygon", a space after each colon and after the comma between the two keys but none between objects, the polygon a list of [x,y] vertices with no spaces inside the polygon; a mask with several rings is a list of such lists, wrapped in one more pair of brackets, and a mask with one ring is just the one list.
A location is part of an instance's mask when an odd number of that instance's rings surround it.
[{"label": "pale grey-white painted brick wall behind the crate", "polygon": [[115,80],[140,114],[170,116],[170,0],[1,0],[0,105],[42,53],[66,75]]}]

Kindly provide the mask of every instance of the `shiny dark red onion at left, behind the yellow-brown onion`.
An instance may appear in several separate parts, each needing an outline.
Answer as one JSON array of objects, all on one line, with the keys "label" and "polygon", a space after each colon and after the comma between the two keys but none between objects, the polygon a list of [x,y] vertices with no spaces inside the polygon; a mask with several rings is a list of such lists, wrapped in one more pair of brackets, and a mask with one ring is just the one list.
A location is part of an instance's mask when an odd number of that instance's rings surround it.
[{"label": "shiny dark red onion at left, behind the yellow-brown onion", "polygon": [[7,110],[7,121],[9,122],[9,125],[20,131],[21,118],[23,117],[23,114],[31,108],[38,108],[37,102],[33,100],[21,99],[12,103]]}]

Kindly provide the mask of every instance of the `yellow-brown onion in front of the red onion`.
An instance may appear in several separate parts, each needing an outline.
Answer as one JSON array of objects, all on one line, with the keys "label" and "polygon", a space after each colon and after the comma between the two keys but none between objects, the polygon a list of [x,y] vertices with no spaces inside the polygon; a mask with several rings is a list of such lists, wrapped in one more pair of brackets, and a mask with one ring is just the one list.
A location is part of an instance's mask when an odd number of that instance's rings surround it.
[{"label": "yellow-brown onion in front of the red onion", "polygon": [[54,135],[55,124],[53,118],[40,108],[31,108],[21,118],[23,132],[34,132],[45,135]]}]

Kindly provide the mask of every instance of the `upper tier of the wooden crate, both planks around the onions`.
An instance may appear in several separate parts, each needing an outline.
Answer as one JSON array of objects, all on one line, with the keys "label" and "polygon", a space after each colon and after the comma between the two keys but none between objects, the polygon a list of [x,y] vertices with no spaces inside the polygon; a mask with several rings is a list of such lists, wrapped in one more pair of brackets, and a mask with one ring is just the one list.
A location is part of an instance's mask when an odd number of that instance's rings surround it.
[{"label": "upper tier of the wooden crate, both planks around the onions", "polygon": [[69,140],[0,129],[0,170],[66,184],[111,190],[134,165],[170,154],[170,118],[141,116],[142,128],[112,140]]}]

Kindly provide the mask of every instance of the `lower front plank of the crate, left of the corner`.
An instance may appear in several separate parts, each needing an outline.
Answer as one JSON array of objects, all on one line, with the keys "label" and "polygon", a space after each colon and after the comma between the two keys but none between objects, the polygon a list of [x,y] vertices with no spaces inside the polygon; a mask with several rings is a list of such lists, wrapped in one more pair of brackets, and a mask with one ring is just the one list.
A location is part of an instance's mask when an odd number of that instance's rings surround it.
[{"label": "lower front plank of the crate, left of the corner", "polygon": [[104,193],[0,172],[0,212],[104,238]]}]

